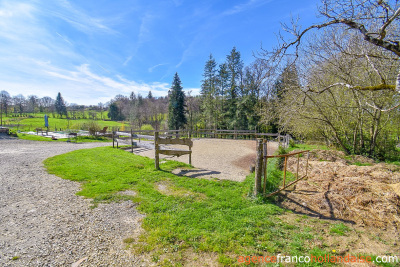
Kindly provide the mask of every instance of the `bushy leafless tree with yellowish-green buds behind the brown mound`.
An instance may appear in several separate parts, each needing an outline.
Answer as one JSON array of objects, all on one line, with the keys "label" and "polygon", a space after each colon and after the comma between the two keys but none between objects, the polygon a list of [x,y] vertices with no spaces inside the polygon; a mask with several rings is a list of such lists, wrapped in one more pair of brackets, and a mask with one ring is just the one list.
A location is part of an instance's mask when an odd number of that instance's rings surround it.
[{"label": "bushy leafless tree with yellowish-green buds behind the brown mound", "polygon": [[400,114],[382,110],[396,105],[399,94],[365,88],[393,82],[397,59],[360,39],[343,28],[325,28],[304,40],[296,61],[299,82],[283,82],[275,110],[285,130],[322,137],[347,153],[384,158],[394,150],[388,136]]}]

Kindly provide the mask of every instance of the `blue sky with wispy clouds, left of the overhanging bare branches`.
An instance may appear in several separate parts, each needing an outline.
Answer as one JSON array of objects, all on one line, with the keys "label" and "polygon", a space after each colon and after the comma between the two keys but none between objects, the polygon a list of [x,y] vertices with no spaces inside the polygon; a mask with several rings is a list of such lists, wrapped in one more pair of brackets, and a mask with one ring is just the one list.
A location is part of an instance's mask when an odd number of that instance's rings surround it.
[{"label": "blue sky with wispy clouds, left of the overhanging bare branches", "polygon": [[317,0],[0,0],[0,90],[97,104],[165,96],[175,72],[198,94],[210,53],[245,64],[280,22],[317,20]]}]

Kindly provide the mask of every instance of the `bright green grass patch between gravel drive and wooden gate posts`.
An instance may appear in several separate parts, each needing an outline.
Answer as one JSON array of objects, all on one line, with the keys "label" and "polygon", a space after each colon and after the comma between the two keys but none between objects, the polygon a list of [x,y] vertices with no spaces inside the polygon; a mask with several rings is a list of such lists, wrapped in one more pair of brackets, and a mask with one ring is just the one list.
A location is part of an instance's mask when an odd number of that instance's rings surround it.
[{"label": "bright green grass patch between gravel drive and wooden gate posts", "polygon": [[[279,176],[269,165],[269,177]],[[47,159],[45,166],[50,173],[81,182],[78,195],[92,198],[94,206],[127,199],[139,203],[146,231],[140,239],[126,237],[127,249],[148,253],[162,266],[196,265],[196,255],[222,266],[238,264],[240,255],[332,255],[337,245],[324,240],[346,240],[355,231],[252,196],[254,175],[244,182],[180,177],[170,171],[190,166],[167,161],[157,171],[153,160],[112,148],[73,151]],[[137,195],[117,194],[127,189]]]}]

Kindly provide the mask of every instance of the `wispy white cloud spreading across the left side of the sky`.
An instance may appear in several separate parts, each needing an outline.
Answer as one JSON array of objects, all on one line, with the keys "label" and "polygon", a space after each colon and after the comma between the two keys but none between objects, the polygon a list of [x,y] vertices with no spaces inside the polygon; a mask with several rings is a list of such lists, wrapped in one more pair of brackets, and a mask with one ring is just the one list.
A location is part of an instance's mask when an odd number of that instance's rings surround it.
[{"label": "wispy white cloud spreading across the left side of the sky", "polygon": [[[61,5],[64,8],[59,8]],[[11,95],[34,94],[56,97],[61,92],[66,101],[78,104],[107,102],[117,94],[135,92],[154,96],[166,95],[169,84],[136,82],[108,70],[108,65],[88,58],[81,52],[68,31],[56,30],[47,18],[55,16],[86,34],[112,33],[101,19],[77,10],[64,0],[0,1],[0,90]],[[142,21],[140,42],[150,38],[147,23]],[[12,27],[10,26],[12,25]],[[129,56],[125,65],[132,59]],[[102,65],[107,66],[104,68]]]}]

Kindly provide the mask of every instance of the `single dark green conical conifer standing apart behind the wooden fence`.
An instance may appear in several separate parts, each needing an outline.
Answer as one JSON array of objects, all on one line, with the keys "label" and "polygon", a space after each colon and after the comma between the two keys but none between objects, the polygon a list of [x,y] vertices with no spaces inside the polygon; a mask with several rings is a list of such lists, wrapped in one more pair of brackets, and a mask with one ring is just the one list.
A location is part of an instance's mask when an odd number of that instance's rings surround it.
[{"label": "single dark green conical conifer standing apart behind the wooden fence", "polygon": [[175,73],[171,90],[169,91],[168,128],[179,130],[187,123],[185,117],[185,93],[178,73]]}]

